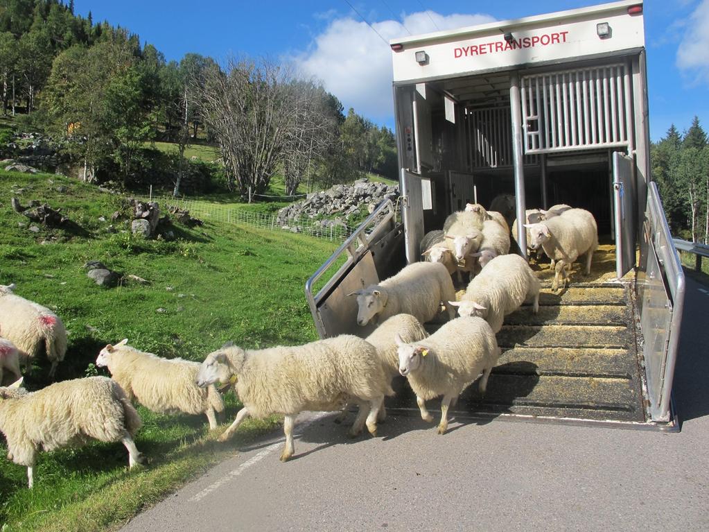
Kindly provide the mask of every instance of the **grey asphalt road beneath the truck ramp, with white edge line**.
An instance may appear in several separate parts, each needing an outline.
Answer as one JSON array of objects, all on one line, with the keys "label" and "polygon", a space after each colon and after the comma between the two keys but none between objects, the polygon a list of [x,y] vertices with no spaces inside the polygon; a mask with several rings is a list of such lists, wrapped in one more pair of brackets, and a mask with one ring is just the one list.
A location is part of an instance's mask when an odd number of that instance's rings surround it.
[{"label": "grey asphalt road beneath the truck ramp, with white edge line", "polygon": [[453,419],[439,436],[411,415],[350,440],[303,414],[291,462],[274,434],[123,531],[707,531],[708,309],[688,279],[680,433]]}]

